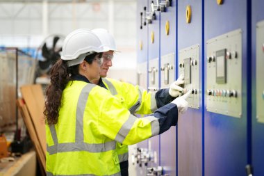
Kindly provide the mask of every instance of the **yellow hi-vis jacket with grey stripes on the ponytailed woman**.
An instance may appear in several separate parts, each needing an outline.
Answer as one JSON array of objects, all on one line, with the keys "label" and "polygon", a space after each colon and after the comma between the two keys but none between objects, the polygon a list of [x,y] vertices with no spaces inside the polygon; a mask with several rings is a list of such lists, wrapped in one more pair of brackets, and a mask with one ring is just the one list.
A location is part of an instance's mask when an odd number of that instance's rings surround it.
[{"label": "yellow hi-vis jacket with grey stripes on the ponytailed woman", "polygon": [[120,175],[116,142],[131,145],[156,136],[164,131],[161,126],[176,125],[177,113],[169,104],[136,118],[108,90],[69,81],[58,123],[46,126],[47,175]]}]

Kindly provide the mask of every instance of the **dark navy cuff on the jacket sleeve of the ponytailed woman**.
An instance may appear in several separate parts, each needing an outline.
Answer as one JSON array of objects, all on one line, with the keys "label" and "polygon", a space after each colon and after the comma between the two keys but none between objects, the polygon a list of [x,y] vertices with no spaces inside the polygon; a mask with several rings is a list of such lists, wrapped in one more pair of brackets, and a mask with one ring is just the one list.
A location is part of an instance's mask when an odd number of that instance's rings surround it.
[{"label": "dark navy cuff on the jacket sleeve of the ponytailed woman", "polygon": [[158,118],[160,125],[159,134],[162,134],[170,129],[170,127],[176,126],[178,121],[178,107],[176,104],[170,103],[157,109],[153,115]]}]

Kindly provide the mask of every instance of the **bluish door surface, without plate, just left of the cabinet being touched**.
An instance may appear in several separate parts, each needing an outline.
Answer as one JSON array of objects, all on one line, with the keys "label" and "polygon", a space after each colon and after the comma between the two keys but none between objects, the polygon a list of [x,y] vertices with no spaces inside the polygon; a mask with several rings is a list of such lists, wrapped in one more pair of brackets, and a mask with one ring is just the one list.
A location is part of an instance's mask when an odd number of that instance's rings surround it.
[{"label": "bluish door surface, without plate, just left of the cabinet being touched", "polygon": [[[165,33],[167,21],[170,23],[169,35]],[[160,56],[170,53],[176,56],[176,1],[172,1],[166,12],[160,13]],[[163,166],[164,175],[176,175],[176,127],[160,135],[160,166]]]}]

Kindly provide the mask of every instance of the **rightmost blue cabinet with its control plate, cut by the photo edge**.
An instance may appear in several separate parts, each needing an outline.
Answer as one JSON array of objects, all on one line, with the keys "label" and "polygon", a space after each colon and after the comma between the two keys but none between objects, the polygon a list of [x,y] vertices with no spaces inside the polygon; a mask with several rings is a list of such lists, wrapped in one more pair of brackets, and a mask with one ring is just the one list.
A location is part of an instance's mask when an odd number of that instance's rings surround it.
[{"label": "rightmost blue cabinet with its control plate, cut by the photo edge", "polygon": [[251,165],[254,175],[264,175],[264,1],[251,1]]}]

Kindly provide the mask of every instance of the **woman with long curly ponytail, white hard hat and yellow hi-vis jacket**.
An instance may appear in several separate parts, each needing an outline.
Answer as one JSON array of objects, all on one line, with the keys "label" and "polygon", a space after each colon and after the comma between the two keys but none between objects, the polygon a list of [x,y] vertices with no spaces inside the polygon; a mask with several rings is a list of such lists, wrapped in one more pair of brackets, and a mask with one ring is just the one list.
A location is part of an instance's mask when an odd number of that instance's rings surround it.
[{"label": "woman with long curly ponytail, white hard hat and yellow hi-vis jacket", "polygon": [[104,51],[97,35],[79,29],[67,35],[51,68],[44,110],[47,175],[120,175],[116,142],[131,145],[161,134],[187,109],[188,94],[135,118],[120,99],[91,83],[100,77]]}]

